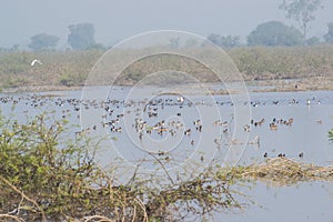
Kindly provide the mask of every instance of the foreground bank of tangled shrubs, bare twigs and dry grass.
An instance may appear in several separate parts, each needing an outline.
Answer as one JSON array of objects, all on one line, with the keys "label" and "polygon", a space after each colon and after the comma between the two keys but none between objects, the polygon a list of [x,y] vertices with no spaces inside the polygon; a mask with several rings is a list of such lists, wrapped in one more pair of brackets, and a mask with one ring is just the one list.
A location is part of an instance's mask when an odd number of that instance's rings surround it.
[{"label": "foreground bank of tangled shrubs, bare twigs and dry grass", "polygon": [[[71,135],[72,127],[52,113],[27,122],[0,118],[0,220],[168,221],[240,209],[239,185],[333,180],[333,167],[285,158],[249,167],[208,168],[191,180],[160,184],[142,175],[119,183],[94,161],[98,144]],[[88,149],[93,148],[93,149]]]}]

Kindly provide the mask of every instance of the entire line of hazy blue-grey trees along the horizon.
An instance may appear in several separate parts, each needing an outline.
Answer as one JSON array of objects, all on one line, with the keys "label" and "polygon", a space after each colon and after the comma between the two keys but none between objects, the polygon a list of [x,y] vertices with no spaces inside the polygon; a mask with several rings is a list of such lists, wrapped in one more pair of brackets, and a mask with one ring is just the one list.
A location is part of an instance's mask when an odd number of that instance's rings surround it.
[{"label": "entire line of hazy blue-grey trees along the horizon", "polygon": [[[259,24],[246,37],[248,46],[311,46],[320,43],[317,37],[307,38],[311,22],[315,19],[314,14],[323,9],[322,0],[283,0],[279,7],[285,11],[287,19],[293,19],[299,24],[297,28],[286,26],[281,21],[269,21]],[[68,43],[73,50],[104,49],[104,46],[94,40],[94,27],[92,23],[71,24],[69,28]],[[241,46],[239,36],[220,36],[212,33],[208,39],[222,47],[233,48]],[[327,23],[327,32],[323,36],[324,42],[333,43],[333,22]],[[28,46],[30,49],[52,50],[57,47],[60,38],[39,33],[31,37]],[[170,40],[172,47],[178,47],[178,41]],[[18,46],[16,46],[18,48]]]}]

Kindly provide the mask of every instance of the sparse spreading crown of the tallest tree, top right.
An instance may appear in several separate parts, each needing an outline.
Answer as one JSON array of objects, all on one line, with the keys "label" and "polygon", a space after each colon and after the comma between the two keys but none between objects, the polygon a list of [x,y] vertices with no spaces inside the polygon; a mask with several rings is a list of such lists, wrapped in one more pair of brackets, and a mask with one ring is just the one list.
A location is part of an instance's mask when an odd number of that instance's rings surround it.
[{"label": "sparse spreading crown of the tallest tree, top right", "polygon": [[322,7],[321,0],[283,0],[279,7],[286,12],[287,19],[294,19],[306,39],[310,23],[315,19],[314,12]]}]

